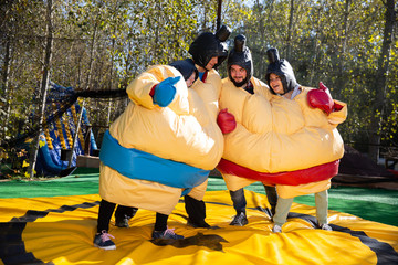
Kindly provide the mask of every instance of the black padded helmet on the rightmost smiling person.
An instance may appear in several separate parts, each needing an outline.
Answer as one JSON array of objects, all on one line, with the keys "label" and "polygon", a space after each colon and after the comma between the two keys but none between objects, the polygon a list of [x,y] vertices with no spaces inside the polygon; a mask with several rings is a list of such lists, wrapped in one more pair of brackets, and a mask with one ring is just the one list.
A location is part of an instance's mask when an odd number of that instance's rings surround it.
[{"label": "black padded helmet on the rightmost smiling person", "polygon": [[279,52],[276,47],[270,47],[266,50],[268,60],[270,62],[266,67],[265,81],[270,86],[270,89],[273,94],[276,94],[270,85],[270,75],[275,74],[281,77],[283,85],[283,94],[286,94],[290,91],[293,91],[297,85],[296,78],[292,65],[284,59],[280,60]]}]

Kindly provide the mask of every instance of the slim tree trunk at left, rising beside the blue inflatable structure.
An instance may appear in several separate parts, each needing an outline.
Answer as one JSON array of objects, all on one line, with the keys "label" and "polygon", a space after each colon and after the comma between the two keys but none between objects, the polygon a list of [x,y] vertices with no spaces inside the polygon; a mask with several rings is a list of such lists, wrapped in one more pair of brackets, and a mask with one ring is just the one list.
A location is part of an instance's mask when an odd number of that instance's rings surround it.
[{"label": "slim tree trunk at left, rising beside the blue inflatable structure", "polygon": [[39,141],[41,132],[43,131],[43,119],[44,119],[44,110],[45,110],[45,99],[49,89],[49,80],[50,80],[50,71],[51,71],[51,57],[52,57],[52,45],[53,45],[53,24],[52,24],[52,12],[53,3],[52,0],[48,0],[46,2],[46,44],[45,44],[45,53],[44,53],[44,64],[43,64],[43,77],[41,82],[41,93],[40,93],[40,117],[39,117],[39,131],[36,137],[32,142],[31,153],[30,153],[30,162],[29,162],[29,174],[32,179],[34,177],[34,167],[38,159],[38,150],[39,150]]}]

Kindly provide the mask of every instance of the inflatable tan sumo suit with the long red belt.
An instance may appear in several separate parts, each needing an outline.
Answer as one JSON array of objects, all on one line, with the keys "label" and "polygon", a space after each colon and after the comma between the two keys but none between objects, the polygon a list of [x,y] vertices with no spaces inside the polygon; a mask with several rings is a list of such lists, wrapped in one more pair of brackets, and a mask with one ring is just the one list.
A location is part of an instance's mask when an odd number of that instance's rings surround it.
[{"label": "inflatable tan sumo suit with the long red belt", "polygon": [[[285,92],[298,84],[287,61],[275,60],[269,75],[283,76]],[[281,198],[316,193],[331,187],[338,172],[344,142],[337,125],[347,116],[347,106],[334,100],[336,112],[326,115],[307,103],[315,88],[301,86],[293,100],[276,95],[263,82],[251,77],[254,94],[222,80],[220,108],[234,115],[237,128],[224,135],[224,152],[218,169],[234,191],[254,181],[276,184]]]}]

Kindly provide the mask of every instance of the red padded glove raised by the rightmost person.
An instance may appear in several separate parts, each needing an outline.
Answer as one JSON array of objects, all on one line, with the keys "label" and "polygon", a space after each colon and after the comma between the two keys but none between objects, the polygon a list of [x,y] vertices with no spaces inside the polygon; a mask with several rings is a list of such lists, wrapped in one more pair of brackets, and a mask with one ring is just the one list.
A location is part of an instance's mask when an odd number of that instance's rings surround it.
[{"label": "red padded glove raised by the rightmost person", "polygon": [[334,102],[328,88],[320,82],[320,89],[312,89],[307,94],[308,105],[313,108],[320,108],[329,115],[334,110]]}]

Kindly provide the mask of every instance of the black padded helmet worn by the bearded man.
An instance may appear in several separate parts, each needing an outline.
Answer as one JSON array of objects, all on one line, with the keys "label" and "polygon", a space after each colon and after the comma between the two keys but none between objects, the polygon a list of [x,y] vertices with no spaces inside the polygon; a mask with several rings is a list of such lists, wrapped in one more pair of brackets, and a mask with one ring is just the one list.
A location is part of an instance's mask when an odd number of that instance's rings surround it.
[{"label": "black padded helmet worn by the bearded man", "polygon": [[[228,76],[237,87],[241,87],[242,85],[247,84],[253,76],[253,60],[249,47],[245,46],[245,36],[242,34],[239,34],[234,38],[233,49],[228,54],[227,60]],[[234,64],[247,71],[247,77],[240,83],[237,83],[231,77],[231,65]]]}]

